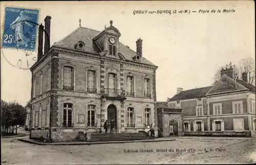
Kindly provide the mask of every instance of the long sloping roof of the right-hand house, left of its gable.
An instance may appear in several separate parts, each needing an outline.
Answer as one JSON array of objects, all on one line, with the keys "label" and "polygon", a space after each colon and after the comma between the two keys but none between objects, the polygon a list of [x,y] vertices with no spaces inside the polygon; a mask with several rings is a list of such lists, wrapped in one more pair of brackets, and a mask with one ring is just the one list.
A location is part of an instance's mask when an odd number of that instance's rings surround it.
[{"label": "long sloping roof of the right-hand house, left of its gable", "polygon": [[205,97],[206,93],[211,89],[211,87],[212,86],[181,91],[178,95],[176,94],[174,97],[169,98],[167,101]]}]

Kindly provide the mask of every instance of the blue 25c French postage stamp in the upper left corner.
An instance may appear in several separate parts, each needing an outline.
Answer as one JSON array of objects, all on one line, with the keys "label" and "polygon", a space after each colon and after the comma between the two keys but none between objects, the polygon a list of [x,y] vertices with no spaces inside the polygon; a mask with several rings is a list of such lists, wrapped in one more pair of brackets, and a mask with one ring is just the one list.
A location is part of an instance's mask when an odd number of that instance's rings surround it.
[{"label": "blue 25c French postage stamp in the upper left corner", "polygon": [[3,48],[36,49],[38,9],[5,8]]}]

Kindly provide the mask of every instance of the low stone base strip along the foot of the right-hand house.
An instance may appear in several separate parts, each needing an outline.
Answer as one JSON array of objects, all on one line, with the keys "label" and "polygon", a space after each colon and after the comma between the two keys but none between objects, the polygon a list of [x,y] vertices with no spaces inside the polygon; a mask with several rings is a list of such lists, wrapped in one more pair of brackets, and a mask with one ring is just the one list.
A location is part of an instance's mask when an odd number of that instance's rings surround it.
[{"label": "low stone base strip along the foot of the right-hand house", "polygon": [[242,131],[242,132],[235,132],[235,131],[223,131],[223,132],[184,132],[185,136],[231,136],[231,137],[250,137],[251,131]]}]

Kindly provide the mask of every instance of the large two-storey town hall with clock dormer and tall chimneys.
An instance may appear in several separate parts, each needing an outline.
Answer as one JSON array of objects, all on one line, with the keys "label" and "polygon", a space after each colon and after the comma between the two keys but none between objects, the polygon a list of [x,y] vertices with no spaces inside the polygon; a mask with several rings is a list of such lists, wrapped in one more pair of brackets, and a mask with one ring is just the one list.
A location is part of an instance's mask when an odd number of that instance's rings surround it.
[{"label": "large two-storey town hall with clock dormer and tall chimneys", "polygon": [[[30,138],[74,140],[78,132],[138,132],[150,126],[157,133],[156,70],[137,51],[119,42],[121,33],[110,21],[101,32],[79,27],[50,47],[51,17],[39,25],[38,58],[30,68]],[[129,32],[127,32],[129,33]]]}]

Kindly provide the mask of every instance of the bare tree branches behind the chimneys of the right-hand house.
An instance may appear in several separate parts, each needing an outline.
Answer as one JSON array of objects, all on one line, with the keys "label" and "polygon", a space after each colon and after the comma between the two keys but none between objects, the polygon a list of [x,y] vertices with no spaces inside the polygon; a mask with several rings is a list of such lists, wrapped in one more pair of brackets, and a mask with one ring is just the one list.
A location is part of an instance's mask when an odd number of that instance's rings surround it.
[{"label": "bare tree branches behind the chimneys of the right-hand house", "polygon": [[[220,79],[222,68],[225,69],[225,66],[220,67],[216,71],[214,77],[212,77],[212,80],[214,81],[213,84]],[[248,82],[255,86],[255,60],[253,58],[245,58],[240,60],[239,65],[235,65],[233,69],[234,77],[239,79],[242,79],[242,73],[248,73]]]}]

